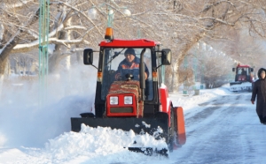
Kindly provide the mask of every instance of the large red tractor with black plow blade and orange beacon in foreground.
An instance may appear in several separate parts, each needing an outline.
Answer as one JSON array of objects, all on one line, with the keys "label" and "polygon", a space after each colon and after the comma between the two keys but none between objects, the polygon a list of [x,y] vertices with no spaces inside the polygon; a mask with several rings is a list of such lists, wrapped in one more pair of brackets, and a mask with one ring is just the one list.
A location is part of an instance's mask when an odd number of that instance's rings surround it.
[{"label": "large red tractor with black plow blade and orange beacon in foreground", "polygon": [[[81,124],[97,128],[133,130],[137,134],[153,132],[159,127],[163,132],[158,139],[165,138],[168,150],[185,144],[183,108],[174,107],[168,97],[168,88],[163,85],[164,65],[171,63],[171,50],[160,49],[160,42],[146,39],[113,39],[113,29],[106,29],[106,41],[99,43],[99,51],[84,49],[84,64],[98,70],[95,112],[82,113],[71,118],[73,131],[80,131]],[[134,48],[140,58],[139,76],[134,80],[130,74],[116,79],[115,73],[127,48]],[[94,53],[98,52],[98,67],[93,65]],[[150,76],[145,79],[145,65]],[[149,126],[146,126],[146,125]],[[134,152],[144,152],[143,148],[129,147]],[[168,150],[153,150],[146,147],[145,153],[168,154]]]}]

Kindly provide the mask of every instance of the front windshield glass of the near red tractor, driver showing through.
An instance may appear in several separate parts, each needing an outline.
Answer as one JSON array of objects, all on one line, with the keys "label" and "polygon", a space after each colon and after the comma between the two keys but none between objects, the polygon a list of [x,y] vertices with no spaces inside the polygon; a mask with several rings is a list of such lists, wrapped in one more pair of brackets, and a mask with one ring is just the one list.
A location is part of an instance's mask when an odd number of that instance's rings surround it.
[{"label": "front windshield glass of the near red tractor, driver showing through", "polygon": [[[144,48],[105,48],[103,51],[103,80],[101,99],[106,100],[106,94],[113,81],[125,80],[125,74],[130,73],[134,76],[132,80],[139,81],[139,68],[140,54]],[[131,53],[132,63],[127,61],[126,55]],[[133,54],[132,54],[133,53]],[[135,54],[134,54],[135,53]],[[125,56],[126,55],[126,56]],[[152,59],[151,49],[146,48],[144,54],[145,72],[147,78],[145,80],[145,100],[153,100],[153,78],[152,78]],[[128,59],[129,60],[129,59]],[[119,68],[120,66],[120,68]],[[122,70],[122,71],[121,71]],[[126,72],[126,73],[125,73]]]}]

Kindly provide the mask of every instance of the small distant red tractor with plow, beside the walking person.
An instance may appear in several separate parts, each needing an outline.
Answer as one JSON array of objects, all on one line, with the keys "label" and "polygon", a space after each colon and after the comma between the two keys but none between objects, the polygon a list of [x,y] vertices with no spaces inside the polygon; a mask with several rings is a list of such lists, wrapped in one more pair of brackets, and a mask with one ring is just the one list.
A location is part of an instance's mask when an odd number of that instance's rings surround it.
[{"label": "small distant red tractor with plow, beside the walking person", "polygon": [[232,68],[236,72],[235,81],[230,83],[231,92],[252,91],[254,78],[252,73],[254,70],[249,65],[238,64],[236,68]]}]

